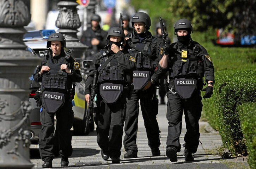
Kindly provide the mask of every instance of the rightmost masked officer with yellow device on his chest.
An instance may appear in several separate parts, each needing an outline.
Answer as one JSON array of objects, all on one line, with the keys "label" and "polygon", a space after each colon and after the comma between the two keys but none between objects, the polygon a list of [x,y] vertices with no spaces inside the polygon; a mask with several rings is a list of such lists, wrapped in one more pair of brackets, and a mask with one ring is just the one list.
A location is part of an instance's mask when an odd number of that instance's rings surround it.
[{"label": "rightmost masked officer with yellow device on his chest", "polygon": [[[177,152],[181,151],[179,136],[181,134],[182,114],[184,112],[187,132],[184,137],[185,161],[194,161],[192,153],[199,145],[199,119],[202,111],[200,90],[203,77],[207,87],[203,98],[210,98],[213,93],[214,67],[206,49],[190,37],[193,27],[188,19],[180,19],[174,25],[178,41],[164,45],[164,56],[159,61],[159,69],[152,80],[159,79],[160,74],[169,70],[169,89],[167,92],[168,136],[166,155],[171,162],[177,161]],[[157,78],[156,78],[157,77]]]}]

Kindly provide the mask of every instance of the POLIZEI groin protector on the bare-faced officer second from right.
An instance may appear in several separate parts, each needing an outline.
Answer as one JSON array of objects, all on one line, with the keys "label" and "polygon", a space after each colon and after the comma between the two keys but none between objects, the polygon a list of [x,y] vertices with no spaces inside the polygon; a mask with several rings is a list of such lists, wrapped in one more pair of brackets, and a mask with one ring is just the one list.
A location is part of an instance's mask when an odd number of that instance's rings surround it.
[{"label": "POLIZEI groin protector on the bare-faced officer second from right", "polygon": [[150,80],[150,71],[133,71],[134,90],[141,90]]}]

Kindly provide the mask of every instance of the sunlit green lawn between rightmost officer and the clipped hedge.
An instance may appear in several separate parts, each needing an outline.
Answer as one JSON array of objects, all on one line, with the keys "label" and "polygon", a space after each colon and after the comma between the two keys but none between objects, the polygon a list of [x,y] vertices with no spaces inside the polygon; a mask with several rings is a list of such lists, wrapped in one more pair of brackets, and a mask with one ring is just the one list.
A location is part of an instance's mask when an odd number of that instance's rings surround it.
[{"label": "sunlit green lawn between rightmost officer and the clipped hedge", "polygon": [[[213,88],[213,96],[209,99],[202,99],[203,112],[202,117],[206,118],[209,124],[215,129],[219,130],[217,109],[215,108],[215,93],[218,92],[216,85],[219,83],[219,75],[225,76],[225,74],[237,70],[256,70],[255,68],[255,48],[243,48],[243,47],[220,47],[214,46],[209,41],[207,42],[206,33],[195,33],[193,40],[199,41],[203,45],[213,60],[215,70],[215,85]],[[201,43],[202,41],[202,43]],[[203,95],[204,93],[202,93]]]}]

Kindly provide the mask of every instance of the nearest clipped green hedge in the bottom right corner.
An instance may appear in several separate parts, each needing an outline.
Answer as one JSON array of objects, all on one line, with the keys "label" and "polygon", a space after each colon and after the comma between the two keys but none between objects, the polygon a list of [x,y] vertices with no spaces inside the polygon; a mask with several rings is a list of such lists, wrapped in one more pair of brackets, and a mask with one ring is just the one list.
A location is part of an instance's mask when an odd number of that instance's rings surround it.
[{"label": "nearest clipped green hedge in the bottom right corner", "polygon": [[248,163],[256,168],[256,103],[244,103],[237,108],[248,151]]}]

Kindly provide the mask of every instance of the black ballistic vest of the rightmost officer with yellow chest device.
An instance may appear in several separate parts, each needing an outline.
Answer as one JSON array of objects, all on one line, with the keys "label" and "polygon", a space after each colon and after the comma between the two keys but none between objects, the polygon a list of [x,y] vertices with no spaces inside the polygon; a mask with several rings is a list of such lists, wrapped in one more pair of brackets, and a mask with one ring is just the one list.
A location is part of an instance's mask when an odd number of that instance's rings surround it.
[{"label": "black ballistic vest of the rightmost officer with yellow chest device", "polygon": [[[194,47],[198,45],[199,49],[200,45],[195,41],[192,42],[188,48],[177,48],[177,52],[175,52],[175,59],[171,60],[171,69],[169,71],[170,78],[180,78],[180,77],[194,77],[194,78],[203,78],[205,69],[203,66],[203,60],[200,56],[197,56],[199,52],[194,50]],[[177,47],[177,43],[173,46]],[[187,58],[182,57],[183,52],[187,51]]]}]

